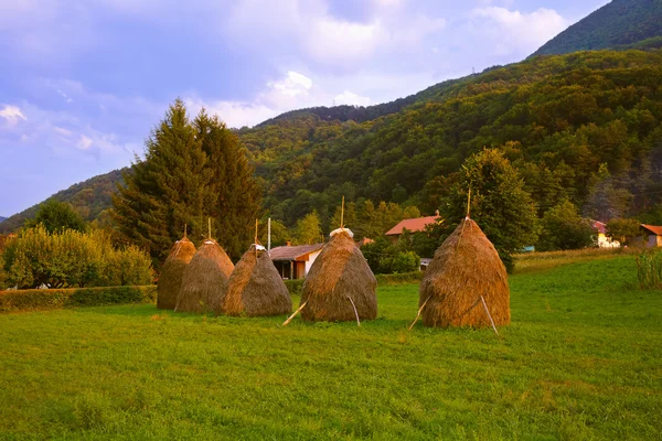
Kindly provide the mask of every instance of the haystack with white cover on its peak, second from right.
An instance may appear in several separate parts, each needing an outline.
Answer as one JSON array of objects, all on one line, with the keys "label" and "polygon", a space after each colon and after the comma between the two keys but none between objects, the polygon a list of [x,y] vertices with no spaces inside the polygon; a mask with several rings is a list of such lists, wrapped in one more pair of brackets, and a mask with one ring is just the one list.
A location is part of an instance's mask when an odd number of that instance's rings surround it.
[{"label": "haystack with white cover on its peak, second from right", "polygon": [[[310,268],[301,293],[306,321],[354,321],[377,316],[377,279],[346,232],[331,237]],[[352,301],[350,301],[350,299]],[[354,303],[356,312],[352,305]]]}]

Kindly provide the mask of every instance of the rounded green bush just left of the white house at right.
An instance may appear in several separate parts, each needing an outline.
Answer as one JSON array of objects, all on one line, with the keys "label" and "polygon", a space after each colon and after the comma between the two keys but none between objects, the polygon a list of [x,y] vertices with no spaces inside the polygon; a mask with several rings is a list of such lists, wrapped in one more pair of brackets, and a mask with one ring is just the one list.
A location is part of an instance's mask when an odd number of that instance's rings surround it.
[{"label": "rounded green bush just left of the white house at right", "polygon": [[575,204],[567,200],[545,213],[541,227],[536,245],[538,251],[580,249],[592,245],[590,220],[583,218]]}]

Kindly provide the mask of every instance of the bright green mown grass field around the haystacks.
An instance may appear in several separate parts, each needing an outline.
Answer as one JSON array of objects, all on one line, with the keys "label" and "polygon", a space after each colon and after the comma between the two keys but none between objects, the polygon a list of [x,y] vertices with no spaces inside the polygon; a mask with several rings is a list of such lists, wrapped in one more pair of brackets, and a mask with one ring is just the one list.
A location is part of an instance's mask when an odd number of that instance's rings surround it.
[{"label": "bright green mown grass field around the haystacks", "polygon": [[502,338],[407,332],[413,284],[380,289],[361,327],[2,314],[0,439],[661,439],[662,292],[632,256],[556,265],[511,277]]}]

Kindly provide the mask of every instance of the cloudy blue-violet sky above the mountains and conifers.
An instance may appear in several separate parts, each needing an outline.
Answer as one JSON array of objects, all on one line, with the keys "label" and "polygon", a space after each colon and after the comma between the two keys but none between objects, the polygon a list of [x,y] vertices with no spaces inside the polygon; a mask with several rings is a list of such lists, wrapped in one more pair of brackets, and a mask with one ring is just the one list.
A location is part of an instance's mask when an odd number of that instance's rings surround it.
[{"label": "cloudy blue-violet sky above the mountains and conifers", "polygon": [[183,98],[231,127],[525,58],[607,0],[0,0],[0,216],[129,165]]}]

